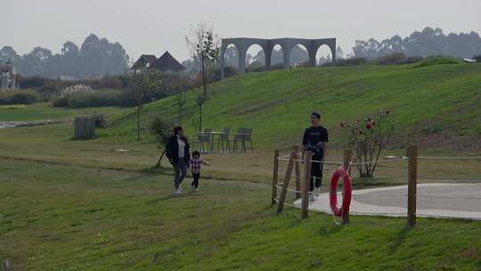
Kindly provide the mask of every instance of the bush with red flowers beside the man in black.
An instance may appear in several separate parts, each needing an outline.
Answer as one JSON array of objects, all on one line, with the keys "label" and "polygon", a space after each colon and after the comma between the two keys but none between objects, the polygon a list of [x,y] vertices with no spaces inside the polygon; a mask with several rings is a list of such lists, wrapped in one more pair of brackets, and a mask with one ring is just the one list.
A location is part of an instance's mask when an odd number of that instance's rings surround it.
[{"label": "bush with red flowers beside the man in black", "polygon": [[360,177],[373,177],[380,153],[395,131],[390,111],[379,111],[374,117],[354,123],[342,122],[340,127],[349,130],[348,146],[355,151],[355,168]]}]

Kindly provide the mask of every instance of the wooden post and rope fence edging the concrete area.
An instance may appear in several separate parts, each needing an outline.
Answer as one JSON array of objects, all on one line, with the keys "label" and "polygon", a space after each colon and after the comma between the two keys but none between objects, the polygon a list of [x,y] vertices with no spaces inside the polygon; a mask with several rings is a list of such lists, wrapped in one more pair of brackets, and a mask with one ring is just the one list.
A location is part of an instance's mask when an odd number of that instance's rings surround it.
[{"label": "wooden post and rope fence edging the concrete area", "polygon": [[[466,172],[464,172],[464,176],[462,177],[445,177],[445,176],[437,176],[436,174],[423,174],[418,171],[418,161],[419,160],[481,160],[481,156],[419,156],[417,146],[411,144],[408,147],[407,156],[402,157],[395,157],[395,156],[387,156],[384,160],[377,160],[377,161],[361,161],[358,162],[353,157],[353,152],[350,150],[346,150],[344,152],[343,161],[333,161],[333,160],[312,160],[312,152],[306,152],[306,156],[304,159],[300,159],[299,155],[299,146],[293,146],[289,155],[281,156],[279,151],[274,152],[274,165],[273,165],[273,193],[272,193],[272,202],[273,204],[277,204],[277,213],[281,213],[282,206],[287,205],[294,208],[299,208],[299,206],[290,204],[286,202],[286,193],[296,193],[296,199],[301,198],[301,218],[307,218],[307,210],[308,210],[308,186],[310,185],[311,180],[311,165],[314,163],[322,163],[324,166],[322,169],[327,170],[335,170],[339,167],[345,168],[346,172],[350,173],[350,169],[353,166],[361,166],[361,165],[368,165],[368,164],[395,164],[396,162],[406,162],[403,163],[404,169],[406,170],[406,174],[399,174],[399,170],[393,167],[382,167],[380,172],[384,173],[396,173],[392,174],[393,176],[386,176],[386,177],[353,177],[352,180],[363,182],[365,180],[395,180],[395,179],[407,179],[407,193],[390,193],[389,196],[393,197],[407,197],[407,225],[408,227],[413,227],[416,225],[416,199],[417,198],[438,198],[438,199],[461,199],[461,200],[481,200],[481,197],[477,196],[466,196],[466,197],[452,197],[449,195],[444,194],[423,194],[417,193],[417,183],[418,179],[427,179],[427,180],[439,180],[439,181],[454,181],[459,180],[463,182],[468,182],[469,184],[476,183],[477,181],[481,181],[481,177],[473,176],[469,177]],[[282,169],[285,172],[281,171],[279,168],[280,161],[286,161],[287,164]],[[300,165],[302,164],[302,168],[304,168],[304,173],[301,177],[300,173]],[[454,167],[456,166],[455,163],[452,164]],[[397,167],[397,166],[396,166]],[[429,168],[428,168],[429,169]],[[437,174],[439,173],[438,169],[436,169]],[[450,168],[443,168],[444,171],[451,172]],[[295,171],[295,172],[293,172]],[[429,170],[428,170],[429,171]],[[379,171],[378,171],[379,172]],[[294,173],[294,174],[293,174]],[[283,177],[283,181],[278,182],[279,176]],[[294,175],[294,177],[292,177]],[[296,189],[289,188],[289,183],[294,181],[296,183]],[[471,183],[472,182],[472,183]],[[302,183],[302,185],[301,185]],[[366,183],[368,184],[368,183]],[[281,193],[281,196],[278,198],[277,193]],[[335,193],[335,192],[334,192]],[[335,193],[337,194],[337,193]],[[342,193],[341,193],[342,195]],[[339,222],[336,218],[334,218],[333,210],[331,210],[334,222],[337,225],[343,225],[348,223],[349,217],[348,212],[346,215],[342,215],[342,222]],[[355,214],[369,214],[368,212],[353,212]],[[389,213],[393,215],[392,213]],[[400,216],[405,216],[406,213],[398,214]]]}]

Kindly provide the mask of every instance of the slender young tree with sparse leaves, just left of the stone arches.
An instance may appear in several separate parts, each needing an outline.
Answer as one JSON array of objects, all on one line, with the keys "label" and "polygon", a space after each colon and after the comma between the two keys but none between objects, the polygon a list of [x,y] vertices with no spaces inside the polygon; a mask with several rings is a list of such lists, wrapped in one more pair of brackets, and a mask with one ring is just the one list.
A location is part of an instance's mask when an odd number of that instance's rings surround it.
[{"label": "slender young tree with sparse leaves, just left of the stone arches", "polygon": [[196,103],[199,105],[199,132],[202,129],[202,106],[208,100],[207,72],[214,67],[219,53],[219,41],[214,34],[214,29],[206,22],[192,26],[189,33],[185,34],[185,43],[189,46],[192,59],[200,66],[202,92],[198,95]]}]

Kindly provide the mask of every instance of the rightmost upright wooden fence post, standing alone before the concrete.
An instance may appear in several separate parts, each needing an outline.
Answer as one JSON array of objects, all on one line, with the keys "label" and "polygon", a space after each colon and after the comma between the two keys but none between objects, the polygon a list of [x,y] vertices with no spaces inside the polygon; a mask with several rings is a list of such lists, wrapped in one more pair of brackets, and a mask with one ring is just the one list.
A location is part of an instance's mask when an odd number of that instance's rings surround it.
[{"label": "rightmost upright wooden fence post, standing alone before the concrete", "polygon": [[418,182],[418,147],[410,144],[408,147],[409,158],[409,180],[408,180],[408,211],[407,225],[412,228],[416,226],[416,197]]}]

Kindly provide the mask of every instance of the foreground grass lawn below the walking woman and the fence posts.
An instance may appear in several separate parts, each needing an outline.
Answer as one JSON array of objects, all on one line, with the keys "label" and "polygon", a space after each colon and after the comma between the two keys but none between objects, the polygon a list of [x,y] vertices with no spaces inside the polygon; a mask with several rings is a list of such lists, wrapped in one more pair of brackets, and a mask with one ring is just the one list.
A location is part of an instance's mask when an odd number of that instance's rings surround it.
[{"label": "foreground grass lawn below the walking woman and the fence posts", "polygon": [[274,215],[269,185],[0,160],[12,270],[478,270],[481,222]]}]

